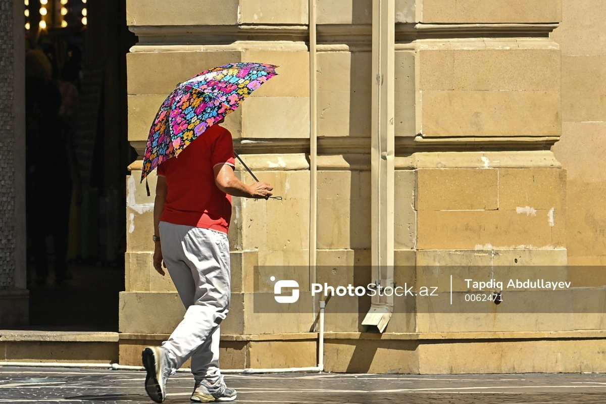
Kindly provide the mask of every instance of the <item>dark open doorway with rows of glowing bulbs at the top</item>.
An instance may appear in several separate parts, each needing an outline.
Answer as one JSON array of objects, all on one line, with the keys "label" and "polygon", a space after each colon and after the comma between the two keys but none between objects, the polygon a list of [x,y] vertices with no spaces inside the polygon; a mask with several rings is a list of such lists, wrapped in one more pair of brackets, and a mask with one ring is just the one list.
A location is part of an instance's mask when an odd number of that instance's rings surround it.
[{"label": "dark open doorway with rows of glowing bulbs at the top", "polygon": [[[125,0],[25,0],[24,9],[26,61],[37,52],[52,68],[42,96],[26,80],[26,99],[38,100],[27,101],[26,118],[28,328],[118,331],[125,176],[136,159],[127,137],[126,54],[136,37]],[[36,115],[56,94],[53,85],[61,96],[57,125]]]}]

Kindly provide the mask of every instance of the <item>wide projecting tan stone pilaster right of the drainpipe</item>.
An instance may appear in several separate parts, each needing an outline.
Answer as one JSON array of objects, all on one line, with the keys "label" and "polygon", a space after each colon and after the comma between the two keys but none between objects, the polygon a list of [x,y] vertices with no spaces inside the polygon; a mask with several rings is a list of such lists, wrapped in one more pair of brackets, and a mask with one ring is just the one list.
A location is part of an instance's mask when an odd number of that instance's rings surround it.
[{"label": "wide projecting tan stone pilaster right of the drainpipe", "polygon": [[[411,146],[417,284],[448,290],[452,275],[454,293],[462,293],[469,290],[464,279],[470,277],[533,279],[545,268],[550,276],[566,279],[566,173],[550,150],[562,127],[561,53],[550,39],[561,21],[561,2],[513,0],[489,6],[423,0],[417,2],[416,21]],[[516,272],[515,267],[531,269]],[[510,350],[546,355],[548,342],[526,338],[574,329],[572,313],[417,310],[417,333],[453,333],[451,341],[420,343],[419,373],[550,371],[551,362],[516,364]],[[488,341],[456,340],[478,332],[486,333]],[[517,340],[516,348],[500,340],[519,333],[527,337]],[[462,357],[496,350],[506,359],[456,362],[448,354],[453,347]],[[562,345],[560,353],[568,356],[571,348]]]}]

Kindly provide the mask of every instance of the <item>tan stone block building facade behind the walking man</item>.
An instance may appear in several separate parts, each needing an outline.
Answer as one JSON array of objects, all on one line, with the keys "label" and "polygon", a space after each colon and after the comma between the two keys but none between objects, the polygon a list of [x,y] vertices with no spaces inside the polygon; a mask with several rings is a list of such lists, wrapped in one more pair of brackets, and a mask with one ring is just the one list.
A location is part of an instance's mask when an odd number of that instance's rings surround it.
[{"label": "tan stone block building facade behind the walking man", "polygon": [[[21,2],[15,4],[21,13]],[[271,291],[262,273],[270,266],[308,268],[297,274],[302,288],[313,280],[423,285],[445,279],[439,267],[464,279],[470,268],[514,265],[559,268],[576,286],[606,285],[596,271],[580,267],[606,263],[606,5],[387,0],[379,10],[389,13],[378,19],[377,4],[127,1],[127,23],[139,39],[127,56],[128,131],[139,155],[159,105],[178,82],[227,62],[281,66],[279,76],[225,123],[236,150],[284,199],[235,199],[224,368],[318,362],[317,302],[308,302],[313,310],[301,314],[254,310],[259,284]],[[378,33],[393,38],[391,44]],[[6,52],[3,62],[10,58]],[[3,66],[2,80],[5,74]],[[15,85],[20,80],[13,76]],[[16,119],[18,142],[22,117],[15,111],[21,101],[15,98],[10,111],[0,85],[1,130]],[[393,121],[379,119],[385,111],[377,110],[377,102],[385,102],[387,117],[393,105]],[[381,136],[387,136],[385,150]],[[22,173],[12,177],[4,168],[18,164],[19,146],[8,138],[3,132],[0,139],[0,180],[9,184],[2,184],[0,197],[9,197],[0,200],[0,214],[14,198],[15,217],[22,220],[20,191],[12,185]],[[7,147],[13,154],[5,154]],[[141,348],[164,340],[184,309],[170,277],[158,276],[151,265],[153,197],[139,184],[141,160],[129,169],[119,361],[139,365]],[[241,167],[238,175],[251,182]],[[154,181],[150,176],[152,190]],[[373,213],[379,210],[384,214]],[[25,273],[19,261],[22,226],[10,230],[8,220],[0,231],[15,231],[8,235],[15,237],[14,250],[9,245],[6,251],[16,252],[12,262],[0,255],[0,299],[22,296],[25,288],[24,276],[22,283],[18,276]],[[393,273],[375,272],[378,265]],[[4,284],[5,273],[15,274],[13,283]],[[465,291],[463,283],[453,286]],[[384,302],[372,303],[353,299],[350,310],[327,303],[325,370],[606,371],[602,314],[394,310],[383,333],[368,333],[362,325],[367,311]]]}]

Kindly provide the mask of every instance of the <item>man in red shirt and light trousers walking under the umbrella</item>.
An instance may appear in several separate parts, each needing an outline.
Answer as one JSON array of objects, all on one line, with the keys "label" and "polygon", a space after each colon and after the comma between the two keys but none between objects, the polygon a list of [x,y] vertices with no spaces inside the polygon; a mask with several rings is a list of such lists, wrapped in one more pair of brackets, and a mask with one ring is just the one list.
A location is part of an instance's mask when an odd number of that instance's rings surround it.
[{"label": "man in red shirt and light trousers walking under the umbrella", "polygon": [[167,268],[187,311],[161,347],[142,353],[145,390],[157,403],[166,398],[168,376],[189,357],[195,377],[191,401],[236,399],[219,371],[219,325],[230,303],[231,196],[266,199],[273,187],[238,180],[233,156],[231,133],[215,124],[158,166],[153,265],[162,276],[162,266]]}]

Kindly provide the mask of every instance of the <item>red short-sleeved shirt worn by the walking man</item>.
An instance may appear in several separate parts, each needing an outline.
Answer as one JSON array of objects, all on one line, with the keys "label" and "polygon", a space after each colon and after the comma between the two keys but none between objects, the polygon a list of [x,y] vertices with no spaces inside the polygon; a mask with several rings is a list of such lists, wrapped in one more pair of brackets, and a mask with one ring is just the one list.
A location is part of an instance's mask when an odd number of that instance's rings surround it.
[{"label": "red short-sleeved shirt worn by the walking man", "polygon": [[231,133],[213,125],[191,142],[178,157],[158,166],[166,177],[168,194],[160,220],[227,233],[231,219],[231,195],[215,184],[213,167],[234,165]]}]

